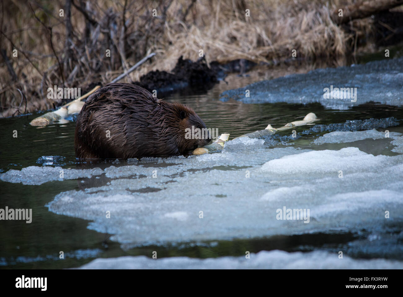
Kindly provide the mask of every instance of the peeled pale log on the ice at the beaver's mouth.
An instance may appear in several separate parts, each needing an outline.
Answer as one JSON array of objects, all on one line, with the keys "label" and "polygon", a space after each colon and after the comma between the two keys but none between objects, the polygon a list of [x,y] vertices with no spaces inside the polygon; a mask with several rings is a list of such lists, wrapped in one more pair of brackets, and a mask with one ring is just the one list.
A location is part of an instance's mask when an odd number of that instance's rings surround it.
[{"label": "peeled pale log on the ice at the beaver's mouth", "polygon": [[[272,125],[269,124],[269,125],[267,125],[267,127],[264,130],[247,133],[242,136],[235,137],[234,139],[241,138],[241,137],[260,138],[260,137],[276,134],[278,132],[287,131],[287,130],[293,129],[295,127],[298,127],[298,126],[307,125],[309,123],[313,123],[314,121],[318,121],[318,120],[319,119],[316,117],[316,115],[314,113],[308,113],[307,115],[305,115],[305,117],[303,118],[302,121],[293,121],[291,123],[287,123],[287,125],[284,125],[283,127],[280,127],[278,129],[273,128]],[[225,136],[226,138],[223,136]],[[221,134],[220,138],[218,138],[212,144],[196,148],[193,151],[193,155],[203,155],[206,153],[209,153],[209,154],[220,153],[222,151],[222,149],[224,148],[224,144],[228,140],[228,138],[229,138],[229,134]]]}]

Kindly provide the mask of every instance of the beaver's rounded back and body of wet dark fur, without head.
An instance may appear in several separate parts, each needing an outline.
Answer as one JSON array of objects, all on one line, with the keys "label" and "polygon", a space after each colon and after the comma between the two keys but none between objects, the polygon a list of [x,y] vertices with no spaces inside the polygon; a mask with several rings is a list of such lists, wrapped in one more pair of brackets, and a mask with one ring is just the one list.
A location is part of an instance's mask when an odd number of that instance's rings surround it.
[{"label": "beaver's rounded back and body of wet dark fur, without head", "polygon": [[162,133],[164,104],[133,84],[108,84],[85,102],[75,130],[76,156],[131,158],[177,155],[174,140]]}]

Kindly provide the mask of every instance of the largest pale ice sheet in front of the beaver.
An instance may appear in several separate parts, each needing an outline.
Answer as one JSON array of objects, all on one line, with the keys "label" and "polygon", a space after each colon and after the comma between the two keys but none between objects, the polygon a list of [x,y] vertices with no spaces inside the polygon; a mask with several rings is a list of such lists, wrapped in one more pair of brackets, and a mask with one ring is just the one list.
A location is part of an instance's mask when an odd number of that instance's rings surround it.
[{"label": "largest pale ice sheet in front of the beaver", "polygon": [[[260,142],[250,150],[250,140],[237,141],[221,154],[110,166],[104,184],[86,181],[85,190],[62,192],[48,207],[90,220],[90,229],[114,234],[123,248],[334,228],[382,233],[403,220],[403,155],[268,149]],[[310,222],[277,220],[284,206],[310,209]]]}]

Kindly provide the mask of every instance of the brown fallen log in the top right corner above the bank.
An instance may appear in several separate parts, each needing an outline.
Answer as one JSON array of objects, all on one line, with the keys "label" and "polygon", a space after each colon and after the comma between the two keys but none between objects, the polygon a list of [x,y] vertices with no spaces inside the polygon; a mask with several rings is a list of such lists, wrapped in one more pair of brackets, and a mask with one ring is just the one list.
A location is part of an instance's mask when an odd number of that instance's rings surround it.
[{"label": "brown fallen log in the top right corner above the bank", "polygon": [[[388,10],[402,4],[403,0],[361,1],[337,8],[333,12],[332,20],[338,25],[341,25],[353,19],[362,19],[364,17],[369,17],[370,15],[373,15],[375,13],[380,13],[383,10]],[[339,9],[343,10],[343,17],[339,17]]]}]

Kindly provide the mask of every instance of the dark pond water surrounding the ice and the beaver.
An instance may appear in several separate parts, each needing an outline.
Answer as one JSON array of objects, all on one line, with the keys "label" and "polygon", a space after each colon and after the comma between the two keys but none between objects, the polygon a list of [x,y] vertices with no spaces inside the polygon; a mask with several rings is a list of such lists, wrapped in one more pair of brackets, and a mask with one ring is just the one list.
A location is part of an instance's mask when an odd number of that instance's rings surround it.
[{"label": "dark pond water surrounding the ice and the beaver", "polygon": [[[218,128],[220,133],[229,132],[231,138],[245,133],[264,129],[268,123],[280,127],[285,123],[301,119],[314,112],[322,119],[320,123],[343,123],[352,119],[396,117],[401,119],[402,107],[365,104],[348,110],[325,109],[317,104],[295,105],[243,104],[234,100],[219,100],[223,90],[237,88],[251,83],[248,78],[240,78],[236,84],[223,82],[207,94],[183,91],[166,96],[167,100],[179,101],[190,105],[206,125]],[[22,169],[27,166],[41,166],[37,159],[42,156],[64,157],[59,165],[63,168],[77,166],[74,153],[75,123],[53,124],[46,127],[32,127],[29,121],[37,115],[0,119],[0,173],[9,169]],[[17,130],[18,137],[13,138]],[[298,131],[306,130],[299,128]],[[402,126],[391,131],[402,132]],[[93,165],[88,165],[89,167]],[[98,164],[97,167],[107,167]],[[69,268],[81,266],[97,257],[117,257],[122,255],[148,255],[155,246],[123,250],[118,243],[110,241],[108,234],[87,229],[88,222],[48,211],[46,203],[64,190],[79,190],[77,180],[47,182],[40,186],[12,184],[0,181],[1,206],[9,208],[32,208],[36,220],[31,224],[23,221],[2,221],[0,224],[0,268]],[[214,245],[163,246],[159,257],[189,256],[218,257],[224,255],[244,255],[248,250],[283,249],[285,251],[310,251],[326,247],[336,249],[359,238],[359,234],[312,234],[276,236],[248,240],[216,241]],[[308,238],[309,237],[309,238]],[[64,260],[59,259],[63,247]],[[357,255],[359,257],[359,255]]]}]

